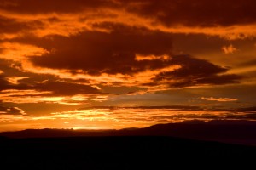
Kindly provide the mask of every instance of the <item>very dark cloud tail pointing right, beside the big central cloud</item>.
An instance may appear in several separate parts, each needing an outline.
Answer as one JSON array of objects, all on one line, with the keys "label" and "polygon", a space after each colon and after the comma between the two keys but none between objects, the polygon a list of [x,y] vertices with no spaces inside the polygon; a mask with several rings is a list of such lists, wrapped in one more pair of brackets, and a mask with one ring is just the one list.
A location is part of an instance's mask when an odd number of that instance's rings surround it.
[{"label": "very dark cloud tail pointing right, beside the big central cloud", "polygon": [[[182,68],[175,71],[161,72],[154,77],[154,82],[172,81],[173,88],[183,88],[201,84],[228,84],[237,83],[240,76],[234,74],[223,74],[228,71],[218,65],[213,65],[204,59],[195,59],[189,55],[176,55],[172,57],[173,65],[181,65]],[[222,75],[219,75],[222,74]]]}]

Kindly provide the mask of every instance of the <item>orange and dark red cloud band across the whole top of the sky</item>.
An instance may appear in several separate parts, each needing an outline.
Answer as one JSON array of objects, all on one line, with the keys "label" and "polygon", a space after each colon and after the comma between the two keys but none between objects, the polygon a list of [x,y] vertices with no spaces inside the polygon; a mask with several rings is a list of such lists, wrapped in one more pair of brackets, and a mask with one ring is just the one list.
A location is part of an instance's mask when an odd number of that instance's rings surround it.
[{"label": "orange and dark red cloud band across the whole top of the sky", "polygon": [[0,24],[3,25],[2,39],[27,35],[69,37],[85,30],[111,31],[111,27],[100,28],[106,22],[143,26],[152,31],[206,34],[227,39],[256,35],[256,4],[253,0],[210,3],[203,0],[189,3],[184,0],[57,0],[54,3],[49,0],[44,3],[24,0],[22,3],[14,1],[11,4],[15,5],[0,6],[3,15]]}]

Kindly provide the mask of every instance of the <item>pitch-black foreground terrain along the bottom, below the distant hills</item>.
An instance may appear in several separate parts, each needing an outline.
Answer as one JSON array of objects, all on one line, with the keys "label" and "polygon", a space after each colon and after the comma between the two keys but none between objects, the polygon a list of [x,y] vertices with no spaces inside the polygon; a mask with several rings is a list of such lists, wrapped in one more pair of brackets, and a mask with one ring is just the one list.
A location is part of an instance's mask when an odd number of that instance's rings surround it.
[{"label": "pitch-black foreground terrain along the bottom, below the distant hills", "polygon": [[245,168],[256,158],[253,146],[171,137],[1,139],[0,151],[3,169]]}]

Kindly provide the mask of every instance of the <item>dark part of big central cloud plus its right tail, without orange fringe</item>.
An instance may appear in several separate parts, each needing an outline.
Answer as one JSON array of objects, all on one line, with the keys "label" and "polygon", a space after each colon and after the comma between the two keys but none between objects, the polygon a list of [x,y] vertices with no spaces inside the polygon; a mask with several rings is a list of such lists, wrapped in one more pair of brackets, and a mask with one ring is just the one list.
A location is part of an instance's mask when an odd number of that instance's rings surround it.
[{"label": "dark part of big central cloud plus its right tail, without orange fringe", "polygon": [[[189,55],[173,55],[172,34],[110,23],[96,26],[108,28],[111,32],[84,31],[73,37],[45,37],[38,45],[51,53],[42,57],[32,56],[30,60],[40,67],[67,69],[73,74],[82,70],[90,75],[133,75],[181,65],[181,69],[161,72],[151,83],[143,83],[143,86],[155,86],[167,81],[172,82],[172,88],[183,88],[237,83],[241,80],[238,75],[224,74],[229,68],[214,65],[208,60]],[[136,54],[169,55],[170,59],[137,60]]]}]

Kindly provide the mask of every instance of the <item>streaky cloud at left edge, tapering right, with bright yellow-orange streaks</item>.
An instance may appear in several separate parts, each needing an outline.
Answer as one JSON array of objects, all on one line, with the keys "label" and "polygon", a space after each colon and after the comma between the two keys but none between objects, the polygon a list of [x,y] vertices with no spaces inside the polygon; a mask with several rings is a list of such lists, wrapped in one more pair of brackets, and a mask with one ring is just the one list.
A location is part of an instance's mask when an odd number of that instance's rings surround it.
[{"label": "streaky cloud at left edge, tapering right, with bright yellow-orange streaks", "polygon": [[[0,75],[0,99],[9,103],[59,103],[79,105],[103,94],[86,80],[68,80],[9,68]],[[5,73],[6,72],[6,73]],[[17,75],[13,77],[13,75]],[[109,94],[108,94],[109,95]]]}]

